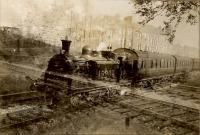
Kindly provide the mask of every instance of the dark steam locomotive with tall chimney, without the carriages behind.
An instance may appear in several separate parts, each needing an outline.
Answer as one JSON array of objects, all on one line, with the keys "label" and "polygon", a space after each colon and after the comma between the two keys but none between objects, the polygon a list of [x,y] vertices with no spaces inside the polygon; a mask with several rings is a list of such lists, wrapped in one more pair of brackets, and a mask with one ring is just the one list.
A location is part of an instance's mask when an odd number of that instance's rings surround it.
[{"label": "dark steam locomotive with tall chimney, without the carriages behind", "polygon": [[81,74],[93,80],[102,77],[115,78],[118,62],[115,60],[114,53],[110,51],[93,51],[89,46],[82,48],[80,57],[70,55],[71,41],[62,40],[62,51],[60,54],[50,58],[44,80],[56,78],[52,73],[61,74]]}]

